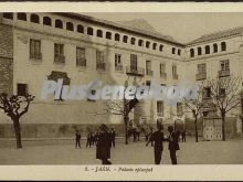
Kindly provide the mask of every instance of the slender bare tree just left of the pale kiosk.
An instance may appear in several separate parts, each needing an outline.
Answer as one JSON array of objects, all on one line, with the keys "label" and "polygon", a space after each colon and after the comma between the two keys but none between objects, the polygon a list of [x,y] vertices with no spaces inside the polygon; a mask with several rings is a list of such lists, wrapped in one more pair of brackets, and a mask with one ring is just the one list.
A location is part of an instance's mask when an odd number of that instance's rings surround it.
[{"label": "slender bare tree just left of the pale kiosk", "polygon": [[197,92],[197,95],[194,99],[187,99],[184,98],[184,105],[192,113],[192,116],[194,118],[194,137],[196,142],[199,141],[198,139],[198,117],[202,116],[202,111],[205,108],[207,103],[203,99],[203,87],[199,86],[199,89]]}]

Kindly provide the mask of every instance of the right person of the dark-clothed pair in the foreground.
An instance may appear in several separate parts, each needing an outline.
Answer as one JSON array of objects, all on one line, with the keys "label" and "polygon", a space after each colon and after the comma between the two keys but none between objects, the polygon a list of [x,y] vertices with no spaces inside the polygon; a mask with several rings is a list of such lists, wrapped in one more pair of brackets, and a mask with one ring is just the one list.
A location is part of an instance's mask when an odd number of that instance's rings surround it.
[{"label": "right person of the dark-clothed pair in the foreground", "polygon": [[168,127],[168,131],[169,131],[169,137],[168,137],[169,146],[168,146],[168,149],[170,151],[171,163],[177,164],[177,150],[180,150],[179,143],[178,143],[178,135],[177,135],[177,132],[173,131],[172,126]]}]

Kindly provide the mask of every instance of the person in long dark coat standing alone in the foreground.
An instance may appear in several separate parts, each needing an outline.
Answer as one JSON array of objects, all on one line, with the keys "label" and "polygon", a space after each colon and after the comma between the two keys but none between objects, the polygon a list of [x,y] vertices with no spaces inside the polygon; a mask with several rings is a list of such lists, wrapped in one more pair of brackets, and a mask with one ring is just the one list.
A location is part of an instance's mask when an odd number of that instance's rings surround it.
[{"label": "person in long dark coat standing alone in the foreground", "polygon": [[110,158],[109,133],[106,125],[99,127],[99,136],[96,144],[96,159],[102,160],[102,164],[112,164]]}]

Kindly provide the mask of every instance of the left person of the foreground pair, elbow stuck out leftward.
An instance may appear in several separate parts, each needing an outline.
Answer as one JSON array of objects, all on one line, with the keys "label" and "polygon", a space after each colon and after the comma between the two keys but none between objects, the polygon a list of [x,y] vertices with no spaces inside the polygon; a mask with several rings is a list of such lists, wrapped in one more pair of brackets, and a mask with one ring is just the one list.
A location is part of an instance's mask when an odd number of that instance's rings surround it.
[{"label": "left person of the foreground pair, elbow stuck out leftward", "polygon": [[162,125],[157,124],[157,128],[158,130],[151,135],[146,146],[148,146],[149,142],[155,142],[154,144],[155,164],[160,164],[162,158],[162,150],[163,150],[162,142],[166,141],[166,139],[163,138]]}]

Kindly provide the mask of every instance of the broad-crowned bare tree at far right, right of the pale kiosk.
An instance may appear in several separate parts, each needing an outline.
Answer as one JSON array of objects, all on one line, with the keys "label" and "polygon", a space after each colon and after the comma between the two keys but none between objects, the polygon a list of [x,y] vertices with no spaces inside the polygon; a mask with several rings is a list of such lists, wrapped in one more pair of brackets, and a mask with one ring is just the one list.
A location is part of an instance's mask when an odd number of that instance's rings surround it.
[{"label": "broad-crowned bare tree at far right, right of the pale kiosk", "polygon": [[218,77],[208,81],[211,101],[219,108],[222,117],[222,140],[225,141],[225,116],[232,109],[241,106],[240,87],[242,78],[236,76]]}]

